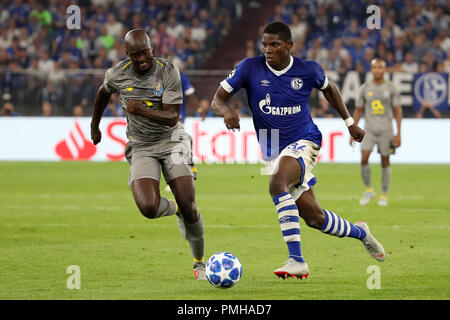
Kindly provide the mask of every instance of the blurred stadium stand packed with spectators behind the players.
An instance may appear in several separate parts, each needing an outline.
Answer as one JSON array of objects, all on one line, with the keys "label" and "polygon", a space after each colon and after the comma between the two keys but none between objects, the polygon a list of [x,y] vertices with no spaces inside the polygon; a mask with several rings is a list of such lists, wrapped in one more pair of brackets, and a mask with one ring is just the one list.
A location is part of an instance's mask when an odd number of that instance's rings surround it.
[{"label": "blurred stadium stand packed with spectators behind the players", "polygon": [[[123,36],[133,28],[145,28],[157,55],[185,71],[199,100],[210,101],[240,60],[261,54],[262,27],[275,20],[291,26],[295,56],[316,60],[330,72],[362,75],[380,57],[389,72],[450,73],[446,0],[81,0],[79,30],[66,26],[70,4],[0,3],[3,114],[41,115],[46,104],[52,115],[71,116],[75,107],[77,114],[81,109],[89,115],[105,69],[126,57]],[[381,29],[366,27],[370,4],[381,8]],[[315,116],[335,116],[320,95],[311,99]],[[116,107],[108,112],[121,115]],[[404,114],[415,116],[412,108]]]}]

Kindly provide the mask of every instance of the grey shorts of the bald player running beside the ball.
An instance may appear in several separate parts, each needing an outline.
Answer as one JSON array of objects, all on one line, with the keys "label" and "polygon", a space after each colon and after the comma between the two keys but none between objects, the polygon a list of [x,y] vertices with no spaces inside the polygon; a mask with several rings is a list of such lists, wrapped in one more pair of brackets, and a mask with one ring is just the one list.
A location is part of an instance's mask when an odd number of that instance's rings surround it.
[{"label": "grey shorts of the bald player running beside the ball", "polygon": [[178,177],[197,178],[197,169],[192,161],[192,138],[183,134],[177,141],[164,140],[148,146],[127,144],[125,157],[130,165],[128,185],[134,180],[161,179],[161,171],[167,183]]}]

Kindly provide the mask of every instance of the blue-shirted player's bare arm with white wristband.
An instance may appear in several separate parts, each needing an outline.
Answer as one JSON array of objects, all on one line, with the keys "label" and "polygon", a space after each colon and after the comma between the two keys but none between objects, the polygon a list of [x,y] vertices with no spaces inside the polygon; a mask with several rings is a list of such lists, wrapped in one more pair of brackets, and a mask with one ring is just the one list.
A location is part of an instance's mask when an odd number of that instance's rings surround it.
[{"label": "blue-shirted player's bare arm with white wristband", "polygon": [[330,81],[328,82],[328,86],[322,91],[325,99],[333,106],[334,109],[339,113],[341,118],[345,120],[346,125],[348,127],[348,131],[350,135],[357,142],[361,142],[364,138],[364,130],[361,129],[356,122],[354,122],[353,118],[350,116],[347,107],[342,101],[341,94],[339,93],[336,86]]}]

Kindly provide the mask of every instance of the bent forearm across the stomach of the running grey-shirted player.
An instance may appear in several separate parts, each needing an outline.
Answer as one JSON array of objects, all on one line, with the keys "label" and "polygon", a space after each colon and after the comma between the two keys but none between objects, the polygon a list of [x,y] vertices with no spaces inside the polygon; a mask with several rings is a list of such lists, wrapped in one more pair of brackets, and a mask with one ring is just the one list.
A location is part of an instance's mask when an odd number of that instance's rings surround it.
[{"label": "bent forearm across the stomach of the running grey-shirted player", "polygon": [[162,110],[146,108],[142,101],[128,100],[126,110],[130,113],[150,118],[156,123],[173,127],[180,117],[181,104],[163,104]]}]

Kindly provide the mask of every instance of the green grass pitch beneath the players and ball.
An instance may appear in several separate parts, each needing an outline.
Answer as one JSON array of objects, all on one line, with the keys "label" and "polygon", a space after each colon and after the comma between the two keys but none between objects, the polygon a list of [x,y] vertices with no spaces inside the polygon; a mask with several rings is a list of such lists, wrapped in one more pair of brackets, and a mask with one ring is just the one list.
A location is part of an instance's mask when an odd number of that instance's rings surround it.
[{"label": "green grass pitch beneath the players and ball", "polygon": [[[0,299],[449,299],[449,165],[393,165],[389,206],[358,204],[356,164],[318,164],[323,208],[365,220],[383,243],[379,263],[354,239],[301,222],[306,280],[281,280],[287,259],[261,165],[198,165],[206,257],[236,254],[241,281],[220,290],[195,281],[175,217],[147,220],[128,189],[126,163],[0,162]],[[380,189],[379,164],[372,181]],[[165,183],[162,182],[164,187]],[[168,192],[162,195],[170,197]],[[69,290],[67,268],[80,267]],[[379,289],[369,289],[371,266]]]}]

